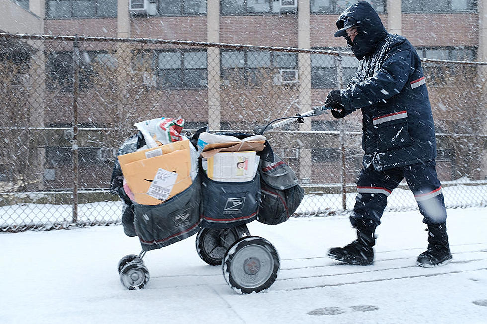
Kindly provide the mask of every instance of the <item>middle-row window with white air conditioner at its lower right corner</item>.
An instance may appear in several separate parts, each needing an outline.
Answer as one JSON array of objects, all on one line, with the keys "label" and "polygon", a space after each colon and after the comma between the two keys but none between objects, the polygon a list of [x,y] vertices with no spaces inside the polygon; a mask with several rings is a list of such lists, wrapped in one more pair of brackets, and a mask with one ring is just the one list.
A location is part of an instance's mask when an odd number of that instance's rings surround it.
[{"label": "middle-row window with white air conditioner at its lower right corner", "polygon": [[297,81],[296,53],[222,51],[223,85],[261,86],[264,82],[290,84]]}]

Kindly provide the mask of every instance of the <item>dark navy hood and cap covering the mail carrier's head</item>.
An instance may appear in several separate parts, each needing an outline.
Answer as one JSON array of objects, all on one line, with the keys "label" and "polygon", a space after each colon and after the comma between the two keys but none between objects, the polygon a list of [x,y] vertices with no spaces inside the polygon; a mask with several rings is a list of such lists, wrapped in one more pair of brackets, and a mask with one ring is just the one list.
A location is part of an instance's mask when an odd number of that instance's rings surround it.
[{"label": "dark navy hood and cap covering the mail carrier's head", "polygon": [[[346,36],[346,33],[343,33],[343,28],[348,28],[344,26],[345,23],[347,26],[357,27],[358,35],[355,36],[353,43]],[[352,47],[353,54],[359,60],[372,53],[387,36],[387,31],[382,24],[381,18],[366,1],[355,3],[345,9],[338,17],[336,27],[338,27],[339,31],[335,33],[335,37],[345,37],[347,43]]]}]

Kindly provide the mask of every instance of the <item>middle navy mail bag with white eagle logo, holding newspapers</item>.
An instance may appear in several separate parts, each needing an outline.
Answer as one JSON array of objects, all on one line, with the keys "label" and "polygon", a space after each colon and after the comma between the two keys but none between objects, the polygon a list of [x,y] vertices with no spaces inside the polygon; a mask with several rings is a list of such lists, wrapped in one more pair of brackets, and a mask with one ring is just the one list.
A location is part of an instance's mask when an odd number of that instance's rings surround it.
[{"label": "middle navy mail bag with white eagle logo, holding newspapers", "polygon": [[257,217],[260,177],[246,182],[214,181],[201,172],[201,227],[229,228],[250,223]]}]

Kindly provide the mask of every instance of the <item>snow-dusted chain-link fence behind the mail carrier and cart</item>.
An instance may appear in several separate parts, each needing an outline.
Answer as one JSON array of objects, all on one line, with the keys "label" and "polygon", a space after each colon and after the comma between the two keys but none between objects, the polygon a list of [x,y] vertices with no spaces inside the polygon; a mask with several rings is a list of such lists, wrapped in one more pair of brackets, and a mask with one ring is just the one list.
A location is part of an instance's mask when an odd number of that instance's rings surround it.
[{"label": "snow-dusted chain-link fence behind the mail carrier and cart", "polygon": [[[424,60],[448,207],[487,205],[487,64]],[[253,132],[324,104],[346,86],[350,53],[153,39],[0,34],[0,228],[117,223],[108,187],[137,121]],[[353,207],[361,114],[308,118],[266,133],[305,188],[297,215]],[[417,208],[405,183],[389,210]]]}]

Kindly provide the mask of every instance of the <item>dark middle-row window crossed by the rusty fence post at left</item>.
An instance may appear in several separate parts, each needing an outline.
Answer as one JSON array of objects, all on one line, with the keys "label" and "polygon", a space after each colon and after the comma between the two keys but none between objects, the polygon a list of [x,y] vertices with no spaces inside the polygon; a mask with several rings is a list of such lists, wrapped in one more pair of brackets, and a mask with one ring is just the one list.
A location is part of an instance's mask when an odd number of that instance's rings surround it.
[{"label": "dark middle-row window crossed by the rusty fence post at left", "polygon": [[[94,67],[94,64],[97,67]],[[115,57],[106,51],[84,51],[79,56],[79,89],[91,87],[100,68],[114,69]],[[99,66],[99,67],[98,67]],[[73,52],[51,52],[47,59],[47,85],[51,91],[73,91]]]}]

